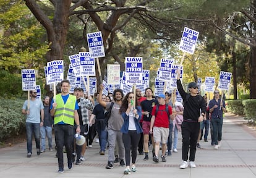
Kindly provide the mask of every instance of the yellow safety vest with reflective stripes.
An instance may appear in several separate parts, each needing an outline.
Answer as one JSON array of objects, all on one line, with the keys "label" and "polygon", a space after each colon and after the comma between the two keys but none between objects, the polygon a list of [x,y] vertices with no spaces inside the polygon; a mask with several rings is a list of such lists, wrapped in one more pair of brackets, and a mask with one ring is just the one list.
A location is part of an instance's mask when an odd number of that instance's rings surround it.
[{"label": "yellow safety vest with reflective stripes", "polygon": [[74,95],[69,95],[66,104],[61,97],[61,94],[56,95],[57,107],[54,114],[54,124],[64,122],[65,124],[74,125],[74,111],[75,111],[75,98]]}]

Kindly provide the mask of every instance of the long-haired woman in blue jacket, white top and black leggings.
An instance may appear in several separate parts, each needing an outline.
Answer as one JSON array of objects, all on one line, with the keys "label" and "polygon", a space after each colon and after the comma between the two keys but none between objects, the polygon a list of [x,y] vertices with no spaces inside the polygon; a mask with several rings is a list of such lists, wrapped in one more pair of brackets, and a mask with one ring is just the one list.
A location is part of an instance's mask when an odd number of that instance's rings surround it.
[{"label": "long-haired woman in blue jacket, white top and black leggings", "polygon": [[[138,106],[137,100],[134,100],[134,93],[127,93],[126,97],[122,101],[122,106],[119,110],[124,124],[122,125],[122,141],[124,142],[125,157],[126,157],[126,169],[124,174],[130,174],[130,171],[136,172],[135,161],[137,158],[137,147],[140,141],[140,133],[143,132],[140,127],[139,121],[142,116],[142,110]],[[135,102],[135,108],[133,107]],[[132,149],[132,166],[130,169],[130,150]]]}]

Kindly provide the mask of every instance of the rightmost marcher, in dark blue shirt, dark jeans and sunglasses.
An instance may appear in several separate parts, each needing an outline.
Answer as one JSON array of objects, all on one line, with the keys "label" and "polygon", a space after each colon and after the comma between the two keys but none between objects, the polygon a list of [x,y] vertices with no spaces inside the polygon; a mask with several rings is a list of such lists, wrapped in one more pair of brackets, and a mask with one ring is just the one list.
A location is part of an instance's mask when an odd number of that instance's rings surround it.
[{"label": "rightmost marcher, in dark blue shirt, dark jeans and sunglasses", "polygon": [[209,103],[211,124],[213,127],[213,145],[217,150],[221,146],[223,111],[226,112],[225,101],[220,98],[220,91],[215,90],[213,100]]}]

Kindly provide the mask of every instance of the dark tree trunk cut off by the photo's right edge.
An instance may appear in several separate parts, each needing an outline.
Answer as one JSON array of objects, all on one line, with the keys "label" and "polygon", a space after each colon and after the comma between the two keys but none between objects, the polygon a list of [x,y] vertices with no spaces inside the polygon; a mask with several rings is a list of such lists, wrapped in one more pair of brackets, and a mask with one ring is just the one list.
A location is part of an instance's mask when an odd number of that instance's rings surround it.
[{"label": "dark tree trunk cut off by the photo's right edge", "polygon": [[250,99],[256,99],[256,48],[251,48],[250,56]]}]

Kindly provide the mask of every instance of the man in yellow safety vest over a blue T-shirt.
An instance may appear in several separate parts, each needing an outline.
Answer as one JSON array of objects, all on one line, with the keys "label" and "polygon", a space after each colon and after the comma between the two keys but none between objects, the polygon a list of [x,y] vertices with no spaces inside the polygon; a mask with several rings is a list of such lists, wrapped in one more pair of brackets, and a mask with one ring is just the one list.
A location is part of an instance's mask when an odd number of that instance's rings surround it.
[{"label": "man in yellow safety vest over a blue T-shirt", "polygon": [[69,80],[61,81],[61,93],[56,95],[56,101],[51,103],[51,116],[54,116],[54,134],[56,138],[58,154],[58,173],[64,172],[63,146],[67,151],[67,167],[72,168],[72,143],[74,140],[74,121],[77,125],[75,130],[80,134],[79,106],[74,95],[69,95]]}]

